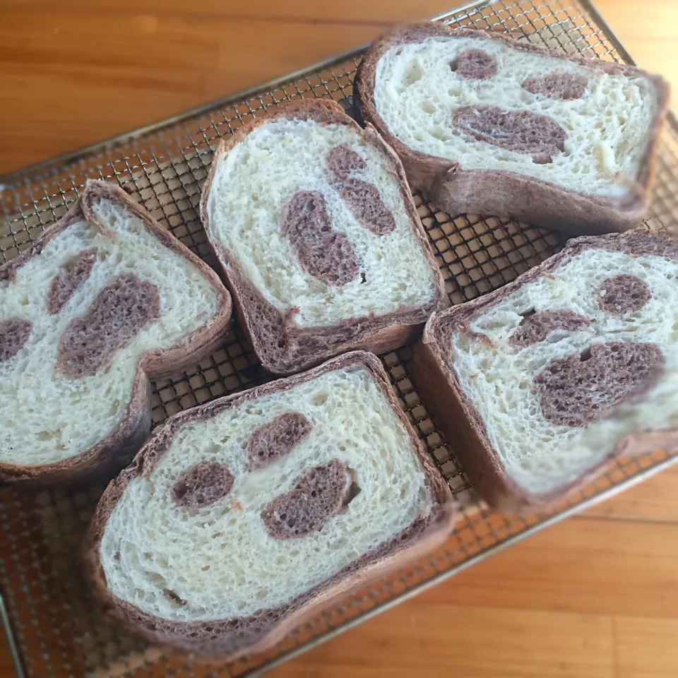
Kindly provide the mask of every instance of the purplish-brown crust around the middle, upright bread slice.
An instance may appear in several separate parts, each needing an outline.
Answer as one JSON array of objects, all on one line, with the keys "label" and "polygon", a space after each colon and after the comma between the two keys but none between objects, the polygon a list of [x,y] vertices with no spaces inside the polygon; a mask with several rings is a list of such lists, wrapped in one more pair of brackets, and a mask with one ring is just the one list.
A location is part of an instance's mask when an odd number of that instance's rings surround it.
[{"label": "purplish-brown crust around the middle, upright bread slice", "polygon": [[[412,232],[422,248],[436,280],[434,297],[421,307],[403,307],[398,311],[381,316],[371,314],[350,318],[335,325],[300,328],[295,322],[297,309],[292,307],[281,314],[270,304],[249,278],[242,273],[237,261],[225,249],[213,233],[208,215],[207,203],[214,175],[220,158],[233,146],[261,124],[276,118],[314,120],[320,124],[338,124],[350,126],[360,131],[367,143],[379,151],[393,167],[405,209],[412,222]],[[208,178],[201,196],[201,219],[205,226],[210,246],[213,248],[225,273],[236,310],[243,328],[248,333],[256,355],[263,367],[275,374],[291,374],[319,364],[324,359],[350,350],[367,350],[374,353],[393,350],[409,343],[418,335],[423,323],[433,311],[449,305],[444,282],[434,256],[427,244],[412,194],[408,188],[403,167],[391,148],[383,143],[379,134],[368,126],[360,130],[337,103],[325,99],[299,100],[286,102],[275,109],[269,109],[265,117],[242,126],[225,141],[222,140],[216,150]]]}]

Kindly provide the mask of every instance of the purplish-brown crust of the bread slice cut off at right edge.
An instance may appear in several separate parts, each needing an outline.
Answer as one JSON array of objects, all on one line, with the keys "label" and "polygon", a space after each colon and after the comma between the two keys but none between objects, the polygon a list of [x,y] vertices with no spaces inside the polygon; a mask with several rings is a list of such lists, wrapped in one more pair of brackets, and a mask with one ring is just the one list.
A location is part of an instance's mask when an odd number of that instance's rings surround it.
[{"label": "purplish-brown crust of the bread slice cut off at right edge", "polygon": [[417,343],[410,364],[410,373],[424,405],[432,412],[436,423],[453,447],[467,477],[490,506],[500,511],[521,511],[531,506],[543,506],[557,501],[571,489],[603,472],[614,459],[622,455],[642,454],[656,449],[678,448],[678,429],[641,431],[622,436],[607,458],[589,468],[571,483],[545,494],[528,492],[506,474],[487,436],[480,413],[460,386],[453,361],[446,347],[453,328],[468,326],[489,307],[516,292],[519,287],[550,275],[564,261],[587,249],[626,252],[631,256],[661,256],[678,260],[678,242],[666,235],[646,233],[608,234],[579,237],[570,240],[558,254],[523,273],[512,283],[471,302],[434,314]]}]

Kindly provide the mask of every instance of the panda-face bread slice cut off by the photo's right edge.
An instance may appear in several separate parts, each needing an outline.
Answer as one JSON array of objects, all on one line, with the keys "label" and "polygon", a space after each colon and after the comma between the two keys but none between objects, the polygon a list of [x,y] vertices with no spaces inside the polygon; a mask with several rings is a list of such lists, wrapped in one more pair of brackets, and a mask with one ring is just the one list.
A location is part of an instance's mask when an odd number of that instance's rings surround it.
[{"label": "panda-face bread slice cut off by the photo's right edge", "polygon": [[559,499],[621,455],[678,448],[678,242],[568,242],[427,323],[412,379],[496,509]]}]

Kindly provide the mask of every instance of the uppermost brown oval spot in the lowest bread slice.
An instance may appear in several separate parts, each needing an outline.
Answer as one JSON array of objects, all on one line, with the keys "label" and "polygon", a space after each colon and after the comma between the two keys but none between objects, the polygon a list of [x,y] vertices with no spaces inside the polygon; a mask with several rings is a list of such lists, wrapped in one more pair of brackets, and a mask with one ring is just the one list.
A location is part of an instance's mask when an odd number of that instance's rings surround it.
[{"label": "uppermost brown oval spot in the lowest bread slice", "polygon": [[256,471],[286,457],[312,427],[301,412],[285,412],[258,427],[247,441],[247,470]]}]

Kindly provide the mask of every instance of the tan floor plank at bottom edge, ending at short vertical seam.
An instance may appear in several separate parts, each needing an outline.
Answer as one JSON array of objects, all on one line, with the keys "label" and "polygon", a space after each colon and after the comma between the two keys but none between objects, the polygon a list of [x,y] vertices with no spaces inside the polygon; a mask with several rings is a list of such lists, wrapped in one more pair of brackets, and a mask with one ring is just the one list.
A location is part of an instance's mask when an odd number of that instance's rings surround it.
[{"label": "tan floor plank at bottom edge, ending at short vertical seam", "polygon": [[[529,650],[528,650],[529,648]],[[268,674],[270,678],[613,678],[612,620],[412,600]]]}]

